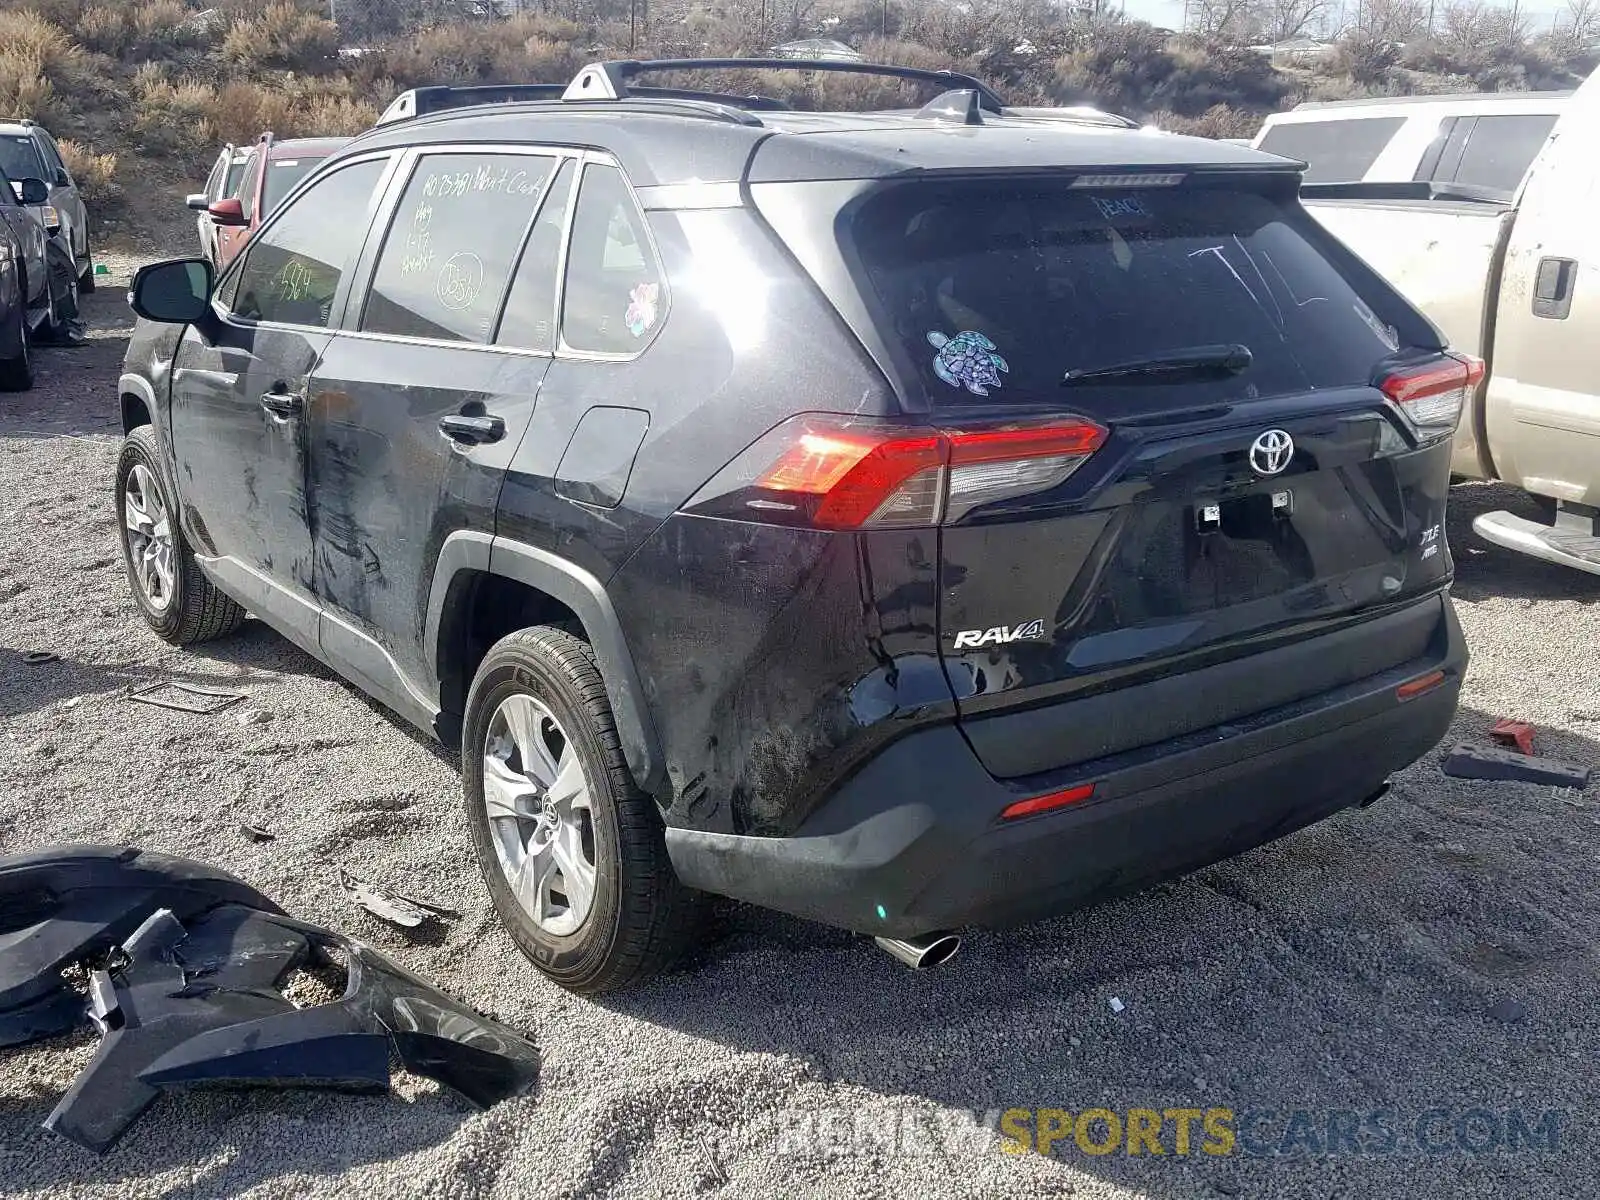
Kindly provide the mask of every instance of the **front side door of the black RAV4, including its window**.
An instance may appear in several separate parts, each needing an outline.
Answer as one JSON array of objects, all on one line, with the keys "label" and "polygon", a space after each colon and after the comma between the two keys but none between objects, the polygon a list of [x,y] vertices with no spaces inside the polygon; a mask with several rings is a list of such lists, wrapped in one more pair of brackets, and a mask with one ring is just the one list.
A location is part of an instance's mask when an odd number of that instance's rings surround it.
[{"label": "front side door of the black RAV4, including its window", "polygon": [[222,280],[216,322],[205,333],[186,328],[173,362],[171,437],[189,541],[246,606],[309,646],[318,608],[306,389],[389,163],[342,166],[285,208]]}]

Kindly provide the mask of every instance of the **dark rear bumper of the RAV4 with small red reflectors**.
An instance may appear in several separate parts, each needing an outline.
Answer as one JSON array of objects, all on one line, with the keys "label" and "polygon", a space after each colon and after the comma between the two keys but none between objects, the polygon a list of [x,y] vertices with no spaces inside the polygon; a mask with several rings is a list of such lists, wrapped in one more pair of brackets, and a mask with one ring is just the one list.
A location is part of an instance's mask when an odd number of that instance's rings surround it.
[{"label": "dark rear bumper of the RAV4 with small red reflectors", "polygon": [[[1026,781],[995,779],[957,726],[938,726],[885,749],[794,837],[669,829],[667,850],[690,886],[861,933],[1059,915],[1358,805],[1427,754],[1467,648],[1448,598],[1424,603],[1440,621],[1422,658],[1320,696]],[[1398,698],[1435,670],[1437,686]],[[1091,800],[1000,821],[1016,800],[1088,782]]]}]

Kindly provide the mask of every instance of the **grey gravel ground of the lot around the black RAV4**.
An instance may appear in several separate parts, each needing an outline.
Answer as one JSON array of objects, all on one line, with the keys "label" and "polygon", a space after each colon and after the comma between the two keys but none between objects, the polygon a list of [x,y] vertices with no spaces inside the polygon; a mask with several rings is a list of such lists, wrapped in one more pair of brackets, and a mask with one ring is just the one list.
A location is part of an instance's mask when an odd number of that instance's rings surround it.
[{"label": "grey gravel ground of the lot around the black RAV4", "polygon": [[[381,1098],[189,1094],[91,1160],[38,1130],[91,1042],[34,1048],[0,1061],[0,1192],[1600,1194],[1594,798],[1446,781],[1434,760],[1370,811],[1142,896],[974,936],[930,974],[730,906],[696,962],[642,990],[594,1003],[546,984],[490,912],[450,755],[254,622],[194,653],[146,632],[110,502],[120,282],[88,306],[90,344],[42,352],[40,386],[0,397],[0,851],[94,840],[216,861],[531,1029],[546,1070],[533,1096],[486,1114],[403,1077]],[[1507,502],[1474,486],[1454,504],[1475,654],[1458,731],[1523,715],[1542,752],[1600,763],[1600,581],[1477,542],[1470,515]],[[24,666],[27,650],[61,661]],[[157,680],[248,699],[210,718],[125,699]],[[270,720],[242,725],[246,706]],[[245,821],[278,838],[251,843]],[[410,939],[344,901],[338,864],[464,917]],[[1197,1130],[1187,1155],[1170,1131],[1162,1157],[1090,1155],[1072,1138],[1051,1157],[1008,1155],[974,1123],[1006,1107],[1226,1107],[1238,1125],[1270,1109],[1253,1146],[1290,1154],[1248,1154],[1245,1139],[1202,1154]],[[1475,1107],[1570,1115],[1554,1152],[1408,1147],[1416,1114]],[[1397,1150],[1314,1154],[1334,1109],[1395,1114]],[[1310,1125],[1291,1138],[1294,1110]],[[1434,1128],[1453,1141],[1448,1120]],[[877,1141],[896,1131],[898,1150]]]}]

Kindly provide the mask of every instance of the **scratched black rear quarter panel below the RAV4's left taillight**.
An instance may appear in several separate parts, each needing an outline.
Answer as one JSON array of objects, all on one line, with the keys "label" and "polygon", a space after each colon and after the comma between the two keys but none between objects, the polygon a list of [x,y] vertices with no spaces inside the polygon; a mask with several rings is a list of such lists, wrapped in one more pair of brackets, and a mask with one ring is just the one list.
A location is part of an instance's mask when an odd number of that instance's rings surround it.
[{"label": "scratched black rear quarter panel below the RAV4's left taillight", "polygon": [[789,834],[894,738],[954,715],[938,531],[677,515],[611,597],[656,717],[674,826]]}]

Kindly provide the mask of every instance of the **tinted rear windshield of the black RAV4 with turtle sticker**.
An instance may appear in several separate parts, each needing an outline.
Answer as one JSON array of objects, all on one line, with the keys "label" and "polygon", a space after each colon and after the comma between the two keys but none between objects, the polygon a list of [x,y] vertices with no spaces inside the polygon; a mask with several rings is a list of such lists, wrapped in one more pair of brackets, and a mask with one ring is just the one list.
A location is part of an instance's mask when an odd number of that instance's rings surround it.
[{"label": "tinted rear windshield of the black RAV4 with turtle sticker", "polygon": [[[1288,205],[1288,208],[1285,206]],[[1114,418],[1371,382],[1416,333],[1362,296],[1293,200],[1211,187],[910,184],[870,200],[853,242],[880,318],[934,405],[1070,403]],[[1238,373],[1080,381],[1069,371],[1245,346]],[[1181,382],[1182,387],[1174,387]]]}]

